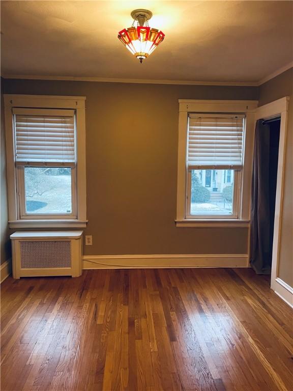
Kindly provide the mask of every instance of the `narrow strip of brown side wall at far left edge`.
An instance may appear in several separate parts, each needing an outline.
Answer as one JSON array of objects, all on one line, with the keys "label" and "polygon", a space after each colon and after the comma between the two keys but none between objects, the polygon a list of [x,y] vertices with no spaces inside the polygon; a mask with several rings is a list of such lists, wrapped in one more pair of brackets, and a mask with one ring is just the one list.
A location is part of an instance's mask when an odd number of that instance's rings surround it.
[{"label": "narrow strip of brown side wall at far left edge", "polygon": [[6,145],[5,145],[5,121],[3,105],[3,79],[1,78],[1,131],[0,131],[0,264],[2,265],[11,257],[8,230],[8,204],[7,204],[7,180],[6,180]]}]

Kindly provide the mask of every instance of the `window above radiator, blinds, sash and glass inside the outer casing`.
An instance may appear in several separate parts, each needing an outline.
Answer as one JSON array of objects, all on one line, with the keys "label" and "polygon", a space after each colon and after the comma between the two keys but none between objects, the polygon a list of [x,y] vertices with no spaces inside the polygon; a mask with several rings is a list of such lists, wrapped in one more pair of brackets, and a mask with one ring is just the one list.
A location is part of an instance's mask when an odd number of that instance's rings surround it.
[{"label": "window above radiator, blinds, sash and glass inside the outer casing", "polygon": [[76,218],[75,111],[14,108],[13,115],[20,217]]}]

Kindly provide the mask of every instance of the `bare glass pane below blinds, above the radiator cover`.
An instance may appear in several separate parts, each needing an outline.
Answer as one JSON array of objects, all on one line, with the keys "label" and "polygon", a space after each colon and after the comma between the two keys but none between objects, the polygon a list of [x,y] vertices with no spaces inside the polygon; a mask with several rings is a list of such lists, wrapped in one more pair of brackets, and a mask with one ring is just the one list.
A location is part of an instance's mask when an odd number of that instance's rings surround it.
[{"label": "bare glass pane below blinds, above the radiator cover", "polygon": [[70,214],[71,169],[68,167],[24,167],[27,214]]}]

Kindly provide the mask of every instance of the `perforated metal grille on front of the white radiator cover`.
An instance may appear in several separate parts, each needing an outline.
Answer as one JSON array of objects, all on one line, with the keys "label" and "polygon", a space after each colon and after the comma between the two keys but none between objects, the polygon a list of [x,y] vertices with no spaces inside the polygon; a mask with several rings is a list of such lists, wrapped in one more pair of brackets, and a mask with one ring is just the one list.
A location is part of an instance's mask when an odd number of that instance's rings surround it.
[{"label": "perforated metal grille on front of the white radiator cover", "polygon": [[71,241],[21,241],[20,267],[21,269],[71,268]]}]

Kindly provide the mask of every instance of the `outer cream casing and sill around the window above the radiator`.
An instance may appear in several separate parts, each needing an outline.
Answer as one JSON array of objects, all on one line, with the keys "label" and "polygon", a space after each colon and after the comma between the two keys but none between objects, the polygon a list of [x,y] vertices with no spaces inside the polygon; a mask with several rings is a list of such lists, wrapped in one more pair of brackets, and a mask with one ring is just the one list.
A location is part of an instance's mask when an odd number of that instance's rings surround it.
[{"label": "outer cream casing and sill around the window above the radiator", "polygon": [[[86,170],[85,170],[85,99],[84,96],[55,96],[55,95],[15,95],[5,94],[5,127],[7,149],[7,182],[9,200],[9,227],[10,228],[84,228],[86,227]],[[42,216],[40,220],[33,221],[33,217],[20,218],[20,200],[17,194],[17,169],[14,158],[13,139],[13,115],[14,107],[25,108],[61,108],[74,109],[76,114],[77,129],[77,165],[76,182],[72,200],[76,218],[61,217],[56,220],[50,216],[50,220]],[[73,173],[74,174],[74,173]],[[77,195],[77,200],[74,200]],[[74,205],[75,204],[75,205]],[[37,217],[37,216],[36,216]]]}]

